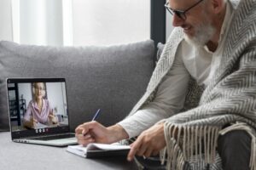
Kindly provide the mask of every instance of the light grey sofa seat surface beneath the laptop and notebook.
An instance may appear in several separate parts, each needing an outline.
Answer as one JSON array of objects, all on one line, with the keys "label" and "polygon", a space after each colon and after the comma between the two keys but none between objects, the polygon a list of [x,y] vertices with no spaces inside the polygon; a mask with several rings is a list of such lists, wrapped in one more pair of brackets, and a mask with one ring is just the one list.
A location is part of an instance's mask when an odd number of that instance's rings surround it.
[{"label": "light grey sofa seat surface beneath the laptop and notebook", "polygon": [[126,157],[104,157],[85,159],[66,151],[67,147],[53,147],[38,144],[21,144],[11,141],[9,132],[0,133],[0,169],[26,170],[136,170],[135,161]]}]

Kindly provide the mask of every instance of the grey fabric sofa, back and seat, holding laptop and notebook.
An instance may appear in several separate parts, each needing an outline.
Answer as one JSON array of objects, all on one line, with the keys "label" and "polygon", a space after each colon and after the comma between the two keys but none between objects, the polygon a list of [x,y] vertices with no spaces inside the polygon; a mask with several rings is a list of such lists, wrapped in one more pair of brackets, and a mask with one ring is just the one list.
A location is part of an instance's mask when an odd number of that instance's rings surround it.
[{"label": "grey fabric sofa, back and seat, holding laptop and notebook", "polygon": [[[146,90],[154,69],[151,40],[109,47],[44,47],[0,42],[0,131],[9,131],[7,77],[64,77],[71,129],[97,118],[105,126],[122,120]],[[0,169],[137,169],[125,157],[90,160],[66,148],[19,144],[0,133]]]}]

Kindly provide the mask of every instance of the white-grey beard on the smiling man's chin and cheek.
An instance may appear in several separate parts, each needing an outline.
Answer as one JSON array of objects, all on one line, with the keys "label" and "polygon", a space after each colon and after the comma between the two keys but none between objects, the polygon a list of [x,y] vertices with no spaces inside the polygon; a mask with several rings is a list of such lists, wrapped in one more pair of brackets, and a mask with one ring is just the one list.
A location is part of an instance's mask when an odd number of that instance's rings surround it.
[{"label": "white-grey beard on the smiling man's chin and cheek", "polygon": [[195,35],[193,37],[184,34],[184,38],[186,42],[189,42],[189,44],[194,45],[195,47],[203,47],[211,40],[214,33],[215,28],[206,21],[195,27]]}]

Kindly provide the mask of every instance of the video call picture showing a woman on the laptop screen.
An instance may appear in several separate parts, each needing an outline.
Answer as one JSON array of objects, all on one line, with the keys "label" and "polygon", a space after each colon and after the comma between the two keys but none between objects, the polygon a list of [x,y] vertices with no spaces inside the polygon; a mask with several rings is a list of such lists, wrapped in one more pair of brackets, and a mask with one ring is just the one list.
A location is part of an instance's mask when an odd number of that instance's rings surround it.
[{"label": "video call picture showing a woman on the laptop screen", "polygon": [[12,130],[67,126],[64,82],[9,83]]}]

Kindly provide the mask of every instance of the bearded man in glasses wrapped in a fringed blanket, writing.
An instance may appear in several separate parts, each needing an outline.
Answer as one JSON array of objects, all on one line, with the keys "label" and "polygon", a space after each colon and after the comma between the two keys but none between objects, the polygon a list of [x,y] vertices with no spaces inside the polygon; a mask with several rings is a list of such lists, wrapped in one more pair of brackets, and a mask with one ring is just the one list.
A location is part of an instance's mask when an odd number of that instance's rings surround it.
[{"label": "bearded man in glasses wrapped in a fringed blanket, writing", "polygon": [[[256,1],[169,0],[166,8],[177,28],[143,98],[116,125],[79,125],[79,143],[138,136],[130,161],[166,149],[168,169],[211,164],[217,153],[222,169],[256,169]],[[181,111],[190,77],[205,90],[198,106]]]}]

